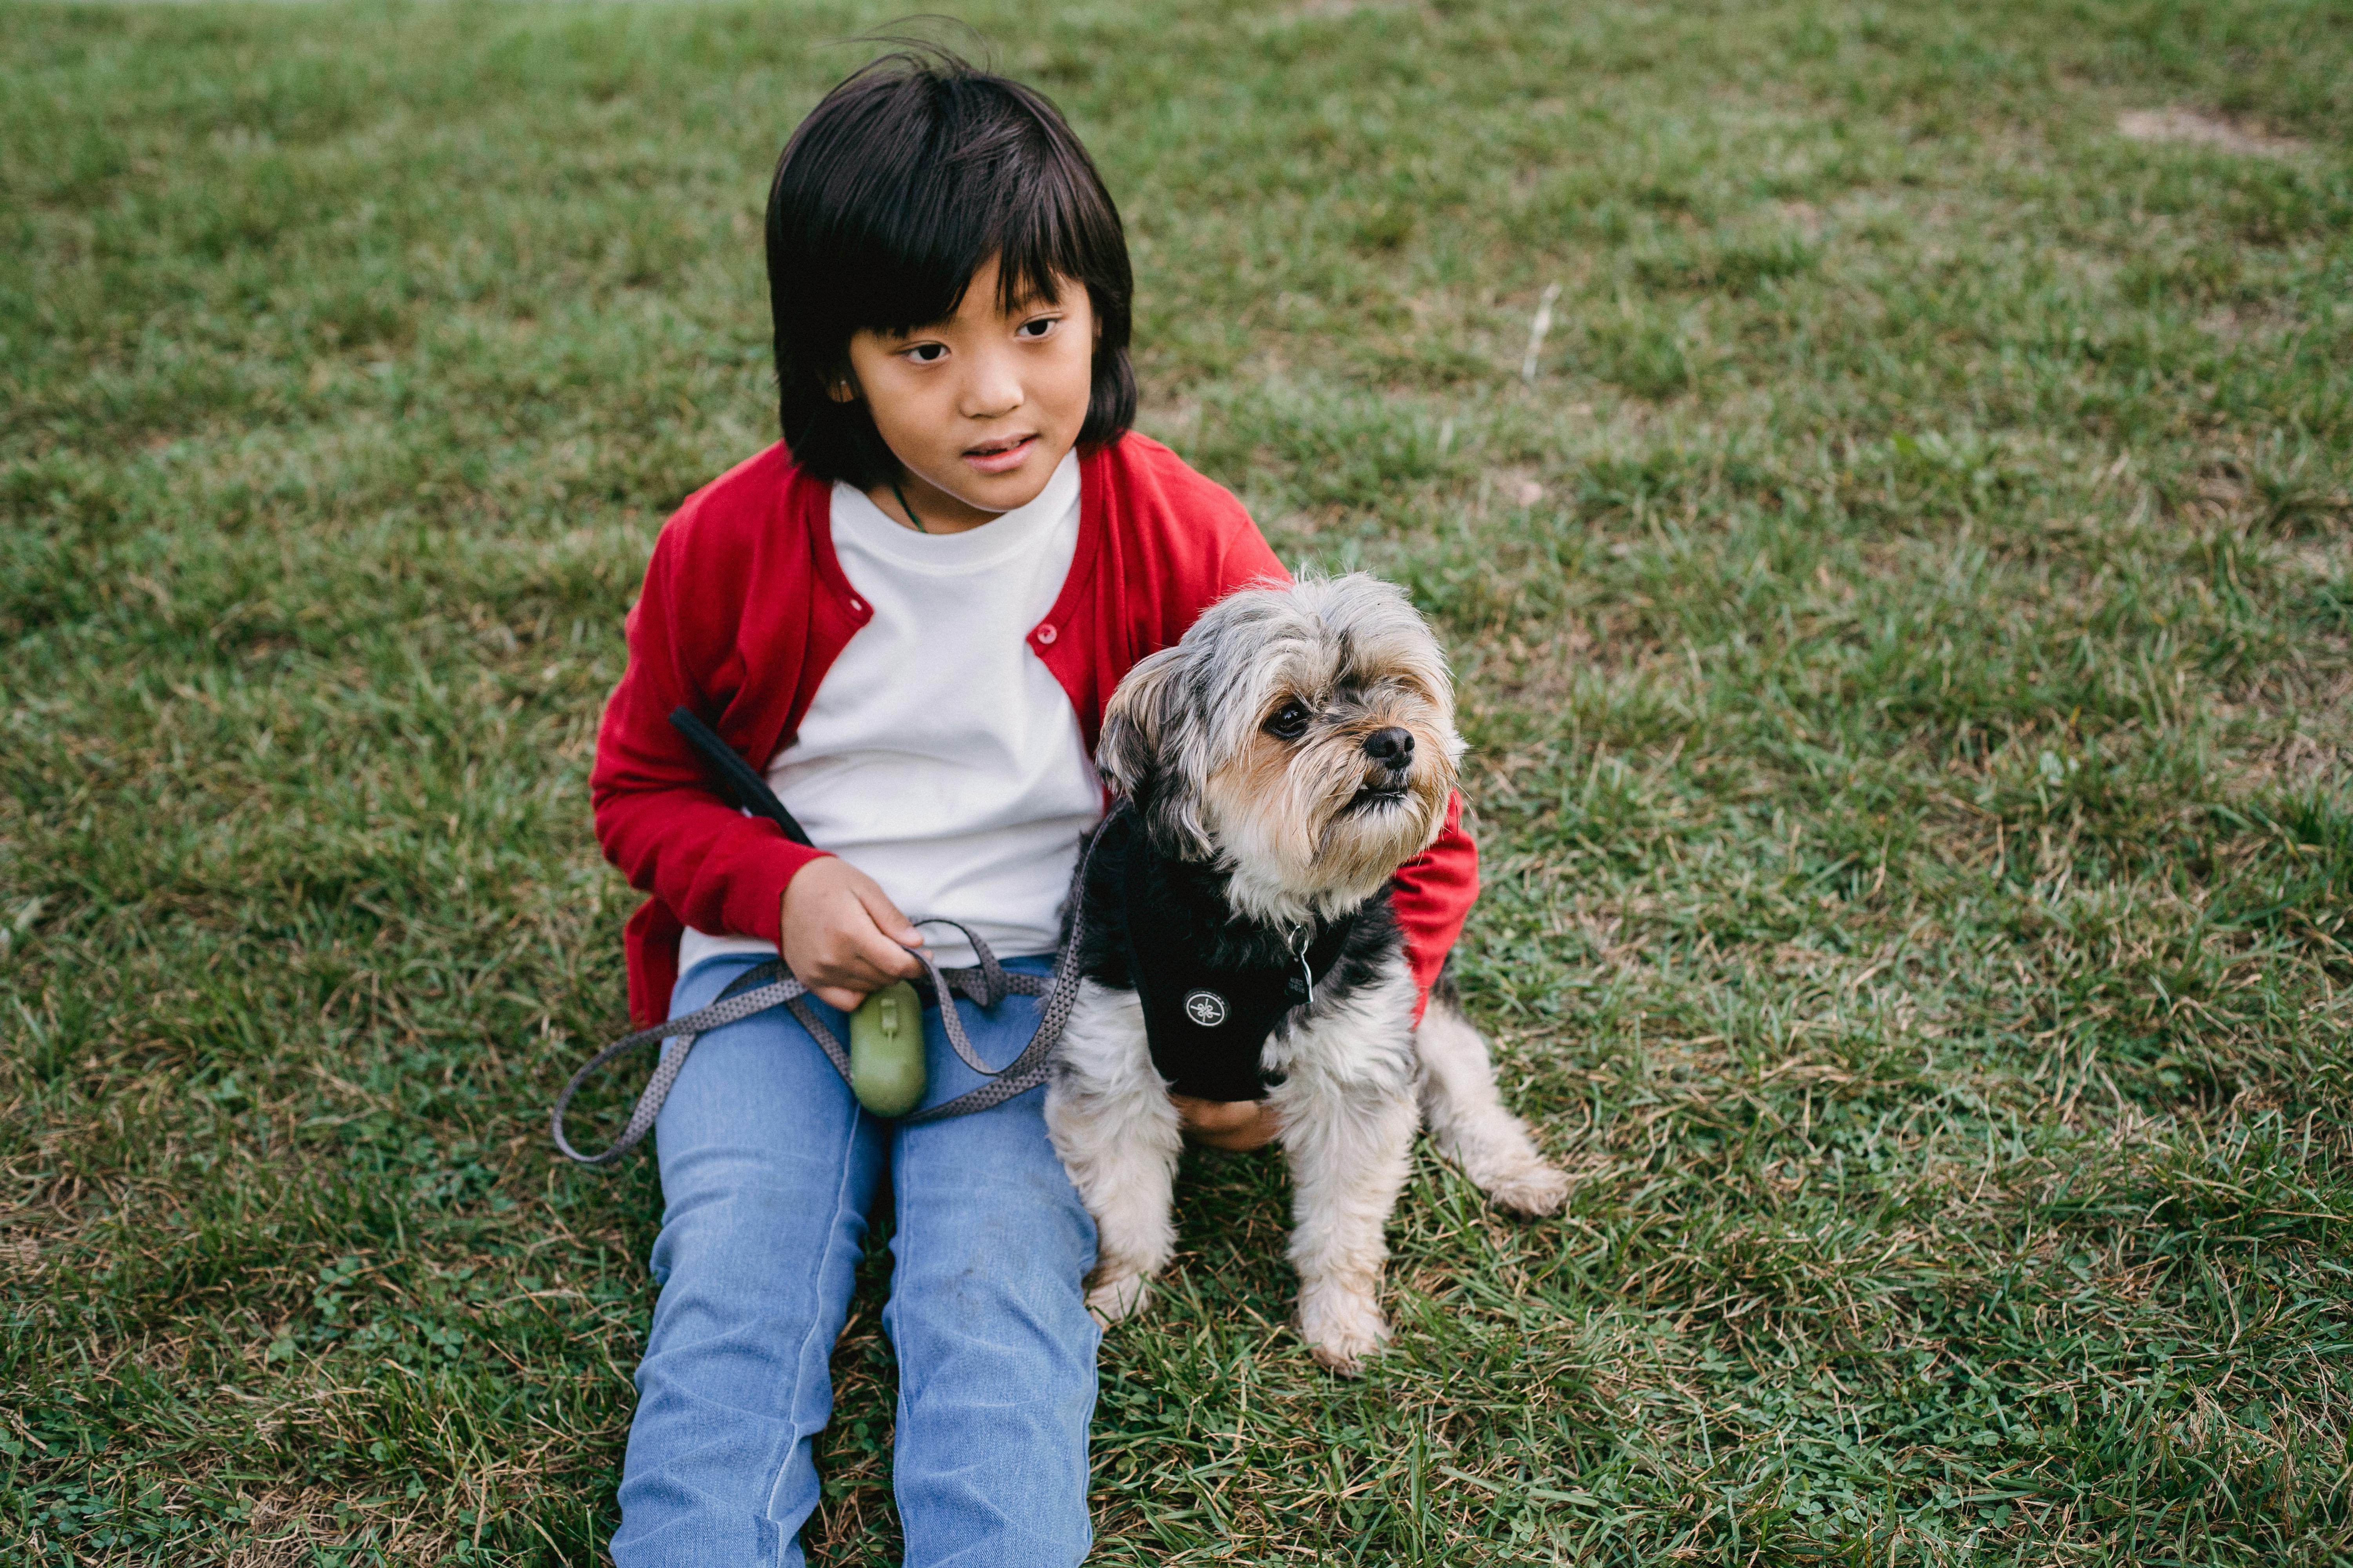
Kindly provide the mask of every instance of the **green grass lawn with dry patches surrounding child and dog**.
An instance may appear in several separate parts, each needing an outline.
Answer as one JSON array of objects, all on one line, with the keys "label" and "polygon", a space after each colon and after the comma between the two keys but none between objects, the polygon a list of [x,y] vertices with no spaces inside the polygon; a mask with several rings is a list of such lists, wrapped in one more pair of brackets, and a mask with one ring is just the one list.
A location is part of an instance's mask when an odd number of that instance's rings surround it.
[{"label": "green grass lawn with dry patches surrounding child and dog", "polygon": [[[1096,1561],[2353,1559],[2353,9],[967,14],[1129,216],[1146,428],[1445,630],[1577,1175],[1424,1159],[1339,1382],[1278,1168],[1191,1161]],[[7,1561],[598,1561],[588,748],[887,19],[0,12]],[[824,1563],[896,1549],[880,1288]]]}]

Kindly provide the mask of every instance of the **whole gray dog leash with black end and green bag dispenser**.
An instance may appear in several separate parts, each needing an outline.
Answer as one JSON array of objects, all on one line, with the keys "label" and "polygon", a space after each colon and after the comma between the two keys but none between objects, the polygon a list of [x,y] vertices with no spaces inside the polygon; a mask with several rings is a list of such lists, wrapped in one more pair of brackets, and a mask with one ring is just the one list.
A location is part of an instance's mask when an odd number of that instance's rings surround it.
[{"label": "whole gray dog leash with black end and green bag dispenser", "polygon": [[[784,809],[767,780],[760,778],[751,764],[734,755],[725,741],[713,733],[708,724],[696,719],[692,712],[680,708],[671,715],[671,724],[680,736],[711,764],[727,795],[755,816],[776,823],[788,839],[795,844],[809,844],[809,835],[802,830],[793,813]],[[1078,1004],[1078,952],[1080,936],[1085,931],[1085,910],[1080,893],[1087,886],[1087,860],[1094,858],[1094,844],[1101,842],[1096,835],[1089,842],[1087,853],[1080,856],[1078,870],[1071,875],[1071,940],[1064,945],[1054,961],[1054,978],[1040,980],[1038,976],[1012,973],[998,964],[998,954],[988,950],[979,936],[953,919],[918,919],[918,926],[955,926],[972,943],[979,964],[972,969],[941,969],[925,947],[908,947],[915,959],[922,961],[925,978],[922,987],[932,992],[939,1004],[939,1023],[948,1032],[948,1046],[962,1058],[967,1067],[979,1072],[986,1084],[960,1093],[958,1098],[934,1105],[932,1110],[904,1114],[922,1100],[922,1058],[915,1056],[913,1084],[901,1060],[887,1060],[894,1053],[915,1048],[920,1053],[922,1027],[911,1013],[908,1004],[920,1001],[915,997],[915,985],[901,980],[887,990],[875,992],[866,1004],[849,1016],[849,1046],[816,1016],[809,1006],[809,987],[802,985],[781,961],[758,964],[720,992],[718,1001],[706,1009],[696,1009],[685,1018],[671,1018],[668,1023],[654,1025],[652,1030],[638,1030],[635,1034],[624,1034],[595,1056],[591,1056],[565,1091],[555,1095],[555,1110],[548,1117],[548,1133],[555,1138],[555,1150],[572,1161],[584,1166],[609,1166],[624,1154],[628,1154],[638,1143],[654,1128],[654,1117],[661,1114],[661,1103],[671,1098],[671,1086],[678,1084],[680,1067],[687,1065],[687,1053],[694,1051],[694,1041],[722,1025],[741,1023],[755,1013],[765,1013],[774,1006],[784,1006],[793,1013],[809,1039],[826,1053],[833,1070],[842,1074],[849,1091],[859,1098],[868,1112],[878,1117],[896,1117],[906,1124],[918,1121],[941,1121],[946,1117],[967,1117],[976,1110],[988,1110],[991,1105],[1002,1105],[1019,1093],[1028,1093],[1045,1081],[1047,1056],[1054,1051],[1054,1041],[1061,1039],[1064,1025],[1071,1023],[1071,1009]],[[991,1067],[972,1048],[972,1037],[965,1034],[965,1020],[955,1011],[955,997],[965,994],[981,1009],[993,1009],[1007,994],[1021,997],[1045,997],[1045,1006],[1038,1011],[1038,1032],[1031,1034],[1031,1044],[1024,1046],[1021,1056],[1005,1063],[1002,1067]],[[868,1018],[868,1011],[873,1013]],[[861,1018],[866,1025],[861,1027]],[[565,1110],[572,1105],[572,1095],[581,1091],[598,1067],[616,1056],[652,1046],[654,1041],[668,1041],[661,1051],[661,1060],[654,1065],[654,1077],[647,1079],[645,1093],[638,1095],[635,1110],[628,1112],[628,1126],[621,1128],[621,1138],[600,1154],[581,1154],[565,1138]],[[864,1084],[861,1084],[864,1079]]]}]

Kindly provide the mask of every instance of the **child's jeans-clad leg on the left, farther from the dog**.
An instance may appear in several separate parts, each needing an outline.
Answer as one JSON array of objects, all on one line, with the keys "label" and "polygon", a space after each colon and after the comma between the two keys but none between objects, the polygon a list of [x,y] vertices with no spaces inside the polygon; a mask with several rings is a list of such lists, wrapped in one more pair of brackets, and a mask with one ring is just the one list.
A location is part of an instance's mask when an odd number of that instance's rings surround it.
[{"label": "child's jeans-clad leg on the left, farther from the dog", "polygon": [[[706,1006],[758,959],[680,980]],[[694,1044],[654,1124],[661,1239],[654,1333],[621,1465],[619,1568],[800,1566],[816,1507],[809,1439],[849,1309],[885,1128],[784,1009]]]}]

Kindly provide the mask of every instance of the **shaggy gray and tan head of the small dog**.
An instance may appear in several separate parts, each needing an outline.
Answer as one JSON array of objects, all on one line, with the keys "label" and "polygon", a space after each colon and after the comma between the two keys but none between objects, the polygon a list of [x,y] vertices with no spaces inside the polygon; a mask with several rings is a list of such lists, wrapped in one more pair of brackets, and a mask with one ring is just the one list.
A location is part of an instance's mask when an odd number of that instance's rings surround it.
[{"label": "shaggy gray and tan head of the small dog", "polygon": [[1096,764],[1162,853],[1226,865],[1242,912],[1301,919],[1428,849],[1461,752],[1431,628],[1351,574],[1212,604],[1120,682]]}]

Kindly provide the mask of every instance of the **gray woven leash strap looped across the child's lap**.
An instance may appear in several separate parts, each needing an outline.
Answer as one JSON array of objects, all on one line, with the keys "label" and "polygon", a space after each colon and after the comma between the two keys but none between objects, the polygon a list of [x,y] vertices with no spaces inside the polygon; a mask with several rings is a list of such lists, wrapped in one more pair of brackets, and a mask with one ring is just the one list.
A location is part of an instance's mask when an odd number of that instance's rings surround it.
[{"label": "gray woven leash strap looped across the child's lap", "polygon": [[[1101,835],[1096,835],[1099,839]],[[988,950],[979,936],[953,919],[918,919],[918,926],[955,926],[972,943],[972,952],[979,959],[972,969],[941,969],[939,961],[925,947],[911,947],[908,952],[922,961],[925,976],[915,980],[918,990],[929,990],[932,999],[939,1004],[939,1023],[948,1032],[948,1046],[962,1058],[967,1067],[979,1072],[986,1084],[969,1088],[953,1100],[934,1105],[932,1110],[920,1110],[899,1121],[913,1126],[918,1121],[944,1121],[948,1117],[969,1117],[976,1110],[988,1110],[991,1105],[1002,1105],[1014,1095],[1028,1093],[1045,1084],[1047,1058],[1054,1053],[1054,1044],[1061,1039],[1064,1025],[1071,1023],[1071,1009],[1078,1006],[1078,952],[1080,938],[1087,929],[1082,893],[1087,886],[1087,863],[1094,860],[1094,842],[1087,844],[1087,853],[1078,858],[1078,870],[1071,875],[1071,940],[1064,943],[1054,959],[1054,978],[1040,980],[1038,976],[1024,976],[1007,971],[998,964],[998,954]],[[955,1011],[955,997],[962,994],[979,1004],[984,1011],[993,1009],[1007,994],[1021,997],[1045,997],[1045,1006],[1038,1011],[1038,1032],[1031,1034],[1028,1046],[1021,1056],[1005,1063],[1002,1067],[991,1067],[972,1048],[972,1037],[965,1034],[965,1020]],[[687,1065],[687,1053],[694,1051],[694,1041],[718,1027],[729,1023],[741,1023],[753,1013],[765,1013],[772,1006],[784,1006],[793,1013],[809,1039],[819,1044],[833,1070],[849,1081],[849,1048],[842,1039],[816,1016],[809,1006],[809,987],[802,985],[793,973],[786,971],[781,959],[767,964],[755,964],[746,969],[736,980],[720,992],[718,1001],[706,1009],[696,1009],[685,1018],[671,1018],[668,1023],[656,1023],[652,1030],[638,1030],[635,1034],[624,1034],[595,1056],[591,1056],[565,1091],[555,1095],[555,1110],[548,1117],[548,1133],[555,1138],[555,1150],[584,1166],[609,1166],[624,1154],[628,1154],[638,1143],[654,1131],[654,1119],[661,1114],[661,1103],[671,1098],[671,1086],[678,1084],[678,1072]],[[581,1154],[565,1138],[565,1110],[572,1105],[572,1095],[581,1091],[598,1067],[621,1056],[624,1051],[638,1051],[654,1041],[668,1041],[661,1048],[661,1060],[654,1063],[654,1077],[645,1081],[645,1091],[638,1095],[638,1105],[628,1112],[628,1124],[614,1145],[600,1154]]]}]

